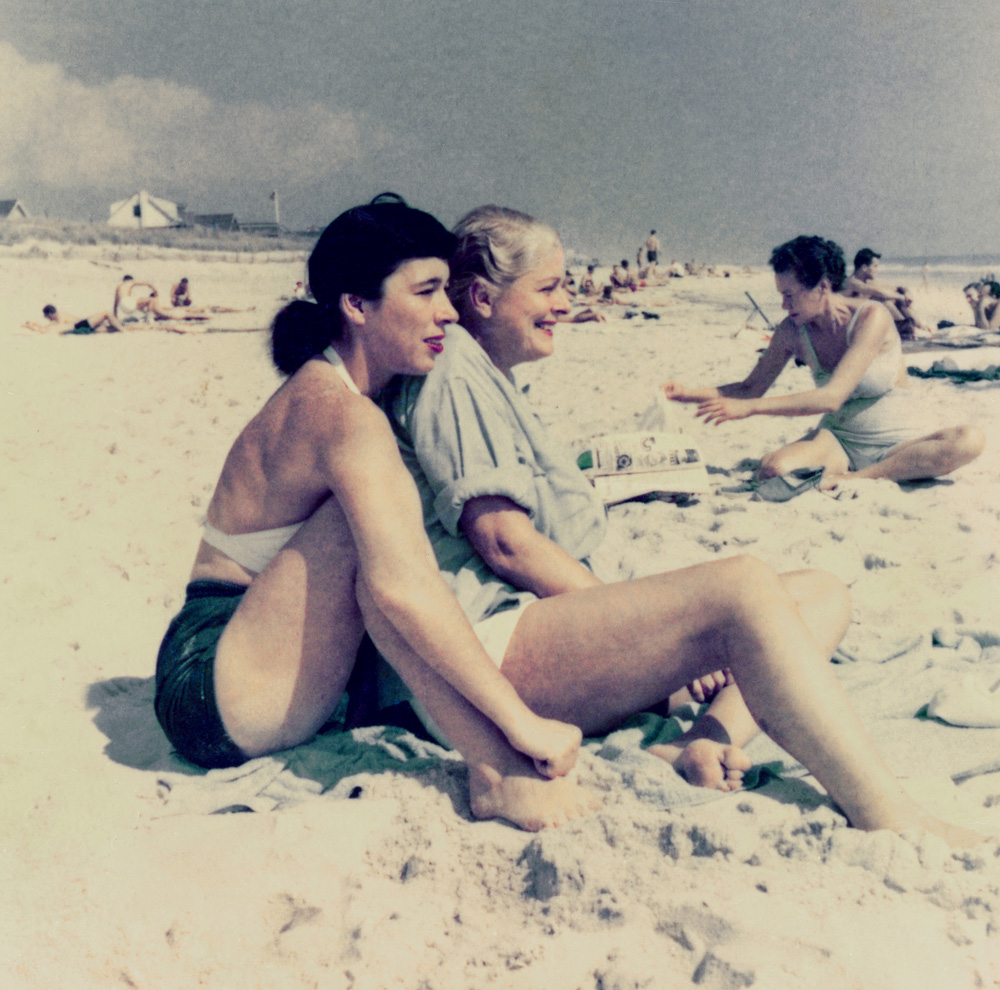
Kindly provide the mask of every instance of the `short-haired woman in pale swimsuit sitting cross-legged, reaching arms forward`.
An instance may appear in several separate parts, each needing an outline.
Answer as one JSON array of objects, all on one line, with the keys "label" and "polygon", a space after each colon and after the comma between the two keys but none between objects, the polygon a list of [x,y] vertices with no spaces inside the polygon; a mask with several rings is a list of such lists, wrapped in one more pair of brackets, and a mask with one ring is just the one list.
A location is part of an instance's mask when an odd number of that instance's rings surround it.
[{"label": "short-haired woman in pale swimsuit sitting cross-legged, reaching arms forward", "polygon": [[[771,267],[788,316],[754,369],[743,381],[717,388],[667,382],[669,398],[696,402],[706,423],[823,414],[801,440],[761,458],[761,478],[822,468],[826,489],[848,478],[910,481],[948,474],[982,453],[985,437],[976,426],[932,431],[909,388],[889,312],[873,300],[840,294],[844,254],[833,241],[796,237],[774,249]],[[809,366],[816,387],[765,398],[793,357]]]}]

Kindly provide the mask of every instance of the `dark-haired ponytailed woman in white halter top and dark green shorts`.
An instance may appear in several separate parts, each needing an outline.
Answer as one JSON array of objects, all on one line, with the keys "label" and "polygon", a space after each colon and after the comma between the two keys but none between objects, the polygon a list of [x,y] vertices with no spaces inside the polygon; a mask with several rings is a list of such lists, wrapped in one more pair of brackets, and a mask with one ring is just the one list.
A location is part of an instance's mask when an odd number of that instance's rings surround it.
[{"label": "dark-haired ponytailed woman in white halter top and dark green shorts", "polygon": [[156,714],[205,767],[310,739],[337,710],[367,627],[470,765],[472,811],[529,829],[585,813],[564,775],[575,726],[497,671],[434,564],[420,503],[369,396],[426,374],[456,318],[454,238],[398,197],[348,210],[309,259],[315,303],[275,317],[288,380],[226,458],[157,662]]}]

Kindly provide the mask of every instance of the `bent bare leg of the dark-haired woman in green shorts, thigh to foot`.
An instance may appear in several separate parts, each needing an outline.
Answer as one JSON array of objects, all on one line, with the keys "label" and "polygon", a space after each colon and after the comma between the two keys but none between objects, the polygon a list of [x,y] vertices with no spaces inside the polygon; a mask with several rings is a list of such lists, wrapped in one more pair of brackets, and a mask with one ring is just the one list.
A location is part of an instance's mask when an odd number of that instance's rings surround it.
[{"label": "bent bare leg of the dark-haired woman in green shorts, thigh to foot", "polygon": [[354,541],[332,498],[254,579],[219,640],[219,711],[247,756],[298,745],[330,718],[366,619],[386,658],[469,761],[477,817],[536,830],[594,807],[593,796],[575,781],[538,774],[530,758],[407,646],[358,580]]}]

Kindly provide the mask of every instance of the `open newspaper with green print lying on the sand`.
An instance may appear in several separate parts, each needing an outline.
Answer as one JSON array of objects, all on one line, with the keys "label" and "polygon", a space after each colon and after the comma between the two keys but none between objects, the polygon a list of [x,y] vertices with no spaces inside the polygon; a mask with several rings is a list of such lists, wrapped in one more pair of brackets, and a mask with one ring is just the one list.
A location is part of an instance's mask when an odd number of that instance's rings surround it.
[{"label": "open newspaper with green print lying on the sand", "polygon": [[712,485],[694,440],[673,422],[665,397],[639,418],[640,430],[594,437],[577,458],[608,505],[643,495],[702,494]]}]

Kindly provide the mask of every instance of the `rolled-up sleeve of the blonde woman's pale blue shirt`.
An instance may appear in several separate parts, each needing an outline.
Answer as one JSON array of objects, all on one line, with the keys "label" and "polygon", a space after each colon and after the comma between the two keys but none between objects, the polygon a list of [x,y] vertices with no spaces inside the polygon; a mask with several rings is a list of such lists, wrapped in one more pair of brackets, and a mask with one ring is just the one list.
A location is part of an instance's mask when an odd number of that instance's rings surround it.
[{"label": "rolled-up sleeve of the blonde woman's pale blue shirt", "polygon": [[464,378],[437,385],[434,401],[417,404],[413,435],[441,524],[457,535],[465,503],[482,495],[502,495],[534,517],[535,472],[518,449],[506,404]]}]

